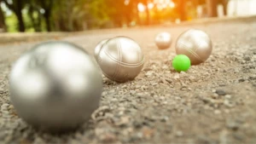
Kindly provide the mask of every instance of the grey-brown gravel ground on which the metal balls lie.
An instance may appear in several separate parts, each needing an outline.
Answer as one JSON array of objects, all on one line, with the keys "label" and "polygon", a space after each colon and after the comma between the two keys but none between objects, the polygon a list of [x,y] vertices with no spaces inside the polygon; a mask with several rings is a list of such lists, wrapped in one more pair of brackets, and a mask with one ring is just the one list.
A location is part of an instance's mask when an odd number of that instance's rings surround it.
[{"label": "grey-brown gravel ground on which the metal balls lie", "polygon": [[[175,72],[174,43],[171,49],[158,50],[154,36],[165,31],[176,38],[189,28],[209,33],[212,55],[188,72]],[[101,106],[90,121],[61,135],[33,130],[9,101],[10,67],[35,43],[0,46],[0,143],[256,143],[255,32],[256,19],[64,38],[92,54],[100,40],[128,36],[142,46],[146,63],[134,81],[118,84],[103,78]]]}]

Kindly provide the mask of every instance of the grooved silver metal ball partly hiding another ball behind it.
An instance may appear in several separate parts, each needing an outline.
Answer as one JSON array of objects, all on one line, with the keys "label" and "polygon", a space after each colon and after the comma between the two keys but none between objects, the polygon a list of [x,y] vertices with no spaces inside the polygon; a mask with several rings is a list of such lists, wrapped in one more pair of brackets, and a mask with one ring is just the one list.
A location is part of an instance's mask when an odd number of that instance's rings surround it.
[{"label": "grooved silver metal ball partly hiding another ball behind it", "polygon": [[126,82],[142,71],[144,56],[139,44],[131,38],[113,37],[102,46],[97,61],[107,78]]}]

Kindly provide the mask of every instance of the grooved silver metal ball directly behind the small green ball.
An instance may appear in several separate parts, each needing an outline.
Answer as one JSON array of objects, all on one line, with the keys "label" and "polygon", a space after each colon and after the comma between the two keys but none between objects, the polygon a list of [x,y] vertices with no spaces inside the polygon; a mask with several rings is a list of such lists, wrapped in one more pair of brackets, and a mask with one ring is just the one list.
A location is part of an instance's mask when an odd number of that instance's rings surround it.
[{"label": "grooved silver metal ball directly behind the small green ball", "polygon": [[177,55],[187,55],[192,65],[206,61],[212,54],[212,41],[206,32],[190,29],[183,32],[176,43]]}]

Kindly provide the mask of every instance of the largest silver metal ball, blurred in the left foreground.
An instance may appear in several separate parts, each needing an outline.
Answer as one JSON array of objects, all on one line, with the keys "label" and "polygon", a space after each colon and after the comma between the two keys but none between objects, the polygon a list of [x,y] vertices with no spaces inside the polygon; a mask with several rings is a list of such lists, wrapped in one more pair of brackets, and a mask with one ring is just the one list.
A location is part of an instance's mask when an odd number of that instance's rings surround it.
[{"label": "largest silver metal ball, blurred in the left foreground", "polygon": [[102,75],[92,57],[72,43],[36,45],[15,62],[10,100],[18,115],[41,130],[71,130],[99,106]]}]

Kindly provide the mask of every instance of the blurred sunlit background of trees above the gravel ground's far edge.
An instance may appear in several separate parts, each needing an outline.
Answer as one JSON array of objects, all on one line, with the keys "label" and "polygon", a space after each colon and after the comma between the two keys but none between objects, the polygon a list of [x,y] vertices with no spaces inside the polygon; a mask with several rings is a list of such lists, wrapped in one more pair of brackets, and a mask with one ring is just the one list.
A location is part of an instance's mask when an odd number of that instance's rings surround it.
[{"label": "blurred sunlit background of trees above the gravel ground's far edge", "polygon": [[256,0],[0,0],[0,32],[78,32],[256,14]]}]

